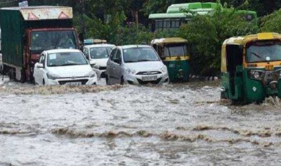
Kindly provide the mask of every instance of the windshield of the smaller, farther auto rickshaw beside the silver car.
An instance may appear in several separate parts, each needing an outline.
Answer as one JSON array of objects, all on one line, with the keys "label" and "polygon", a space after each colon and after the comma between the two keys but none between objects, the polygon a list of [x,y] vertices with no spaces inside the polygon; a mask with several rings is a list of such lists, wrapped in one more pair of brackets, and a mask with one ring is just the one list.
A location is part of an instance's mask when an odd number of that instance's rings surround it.
[{"label": "windshield of the smaller, farther auto rickshaw beside the silver car", "polygon": [[188,56],[187,44],[169,44],[164,46],[164,56]]}]

